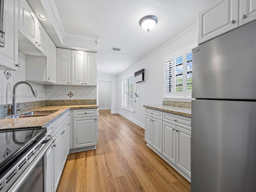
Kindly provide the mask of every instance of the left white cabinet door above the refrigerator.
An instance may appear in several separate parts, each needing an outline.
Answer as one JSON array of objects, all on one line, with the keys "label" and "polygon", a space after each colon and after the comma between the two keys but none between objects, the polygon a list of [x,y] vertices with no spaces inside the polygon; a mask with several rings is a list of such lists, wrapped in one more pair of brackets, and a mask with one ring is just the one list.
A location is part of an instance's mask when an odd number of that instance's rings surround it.
[{"label": "left white cabinet door above the refrigerator", "polygon": [[217,0],[198,14],[198,44],[238,27],[239,0]]}]

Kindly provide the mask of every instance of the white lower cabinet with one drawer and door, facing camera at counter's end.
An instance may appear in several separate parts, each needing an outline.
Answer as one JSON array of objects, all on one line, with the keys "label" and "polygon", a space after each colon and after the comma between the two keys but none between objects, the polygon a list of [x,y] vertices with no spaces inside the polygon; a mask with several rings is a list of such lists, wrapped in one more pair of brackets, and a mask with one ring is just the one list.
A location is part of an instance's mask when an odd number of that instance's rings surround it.
[{"label": "white lower cabinet with one drawer and door, facing camera at counter's end", "polygon": [[98,144],[96,109],[74,110],[74,149]]}]

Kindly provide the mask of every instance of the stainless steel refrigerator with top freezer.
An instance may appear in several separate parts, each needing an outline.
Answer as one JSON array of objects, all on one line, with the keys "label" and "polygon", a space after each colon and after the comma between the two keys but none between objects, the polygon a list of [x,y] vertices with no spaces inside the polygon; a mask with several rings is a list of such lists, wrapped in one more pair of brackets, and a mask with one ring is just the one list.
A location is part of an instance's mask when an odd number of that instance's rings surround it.
[{"label": "stainless steel refrigerator with top freezer", "polygon": [[256,191],[256,21],[192,50],[192,192]]}]

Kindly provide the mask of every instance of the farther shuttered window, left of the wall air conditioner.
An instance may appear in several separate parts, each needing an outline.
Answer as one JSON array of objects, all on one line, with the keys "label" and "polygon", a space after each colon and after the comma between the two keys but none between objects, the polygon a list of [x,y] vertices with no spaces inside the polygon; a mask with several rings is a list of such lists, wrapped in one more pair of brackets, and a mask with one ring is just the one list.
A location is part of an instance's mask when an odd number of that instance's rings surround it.
[{"label": "farther shuttered window, left of the wall air conditioner", "polygon": [[122,108],[134,111],[133,76],[122,80]]}]

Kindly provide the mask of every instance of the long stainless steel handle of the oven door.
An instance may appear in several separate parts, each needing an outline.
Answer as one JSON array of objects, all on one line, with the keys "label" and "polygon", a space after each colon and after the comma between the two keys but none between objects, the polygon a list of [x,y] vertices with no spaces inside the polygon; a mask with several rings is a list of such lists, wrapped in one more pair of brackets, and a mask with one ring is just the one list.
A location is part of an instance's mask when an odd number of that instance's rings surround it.
[{"label": "long stainless steel handle of the oven door", "polygon": [[22,186],[23,182],[26,180],[26,178],[29,176],[29,174],[34,170],[38,162],[41,160],[41,158],[44,156],[48,148],[53,144],[53,142],[56,140],[55,136],[52,136],[46,145],[42,148],[42,150],[38,153],[36,158],[30,163],[28,168],[20,175],[20,177],[14,182],[14,184],[11,186],[11,188],[8,190],[8,192],[15,192],[18,191],[18,189]]}]

